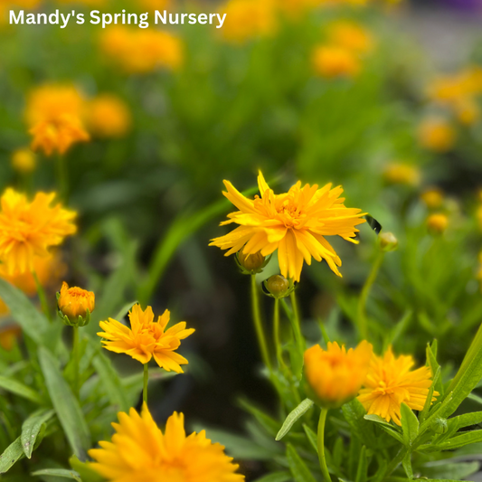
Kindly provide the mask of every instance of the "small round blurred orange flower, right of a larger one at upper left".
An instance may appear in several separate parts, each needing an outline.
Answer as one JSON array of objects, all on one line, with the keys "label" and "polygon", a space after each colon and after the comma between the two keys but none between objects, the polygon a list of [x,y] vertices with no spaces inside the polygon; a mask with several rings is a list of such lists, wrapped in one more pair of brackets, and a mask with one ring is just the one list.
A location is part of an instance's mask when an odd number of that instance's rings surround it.
[{"label": "small round blurred orange flower, right of a larger one at upper left", "polygon": [[90,100],[86,118],[90,132],[98,137],[122,137],[131,126],[128,106],[110,94],[102,94]]}]

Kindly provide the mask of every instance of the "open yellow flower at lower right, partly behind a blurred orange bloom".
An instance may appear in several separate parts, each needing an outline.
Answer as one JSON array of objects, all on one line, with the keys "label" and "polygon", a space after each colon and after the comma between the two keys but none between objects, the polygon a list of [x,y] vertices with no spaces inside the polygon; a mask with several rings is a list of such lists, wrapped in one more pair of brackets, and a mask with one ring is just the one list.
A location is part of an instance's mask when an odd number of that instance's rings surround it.
[{"label": "open yellow flower at lower right, partly behind a blurred orange bloom", "polygon": [[[422,410],[431,386],[428,366],[411,371],[415,364],[410,355],[395,357],[390,347],[383,356],[373,354],[370,370],[360,390],[358,400],[369,415],[401,425],[400,407],[407,404],[412,410]],[[432,402],[439,396],[433,392]]]}]

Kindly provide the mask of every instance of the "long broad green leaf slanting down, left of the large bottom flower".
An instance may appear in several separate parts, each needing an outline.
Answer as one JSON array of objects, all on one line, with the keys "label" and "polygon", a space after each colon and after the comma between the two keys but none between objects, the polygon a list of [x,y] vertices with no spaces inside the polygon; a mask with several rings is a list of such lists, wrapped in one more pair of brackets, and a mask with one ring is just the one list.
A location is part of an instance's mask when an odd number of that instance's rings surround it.
[{"label": "long broad green leaf slanting down, left of the large bottom flower", "polygon": [[53,355],[42,347],[39,349],[39,361],[53,408],[71,444],[71,449],[77,457],[85,458],[86,450],[90,448],[90,432],[79,402],[71,392],[69,384],[61,376]]}]

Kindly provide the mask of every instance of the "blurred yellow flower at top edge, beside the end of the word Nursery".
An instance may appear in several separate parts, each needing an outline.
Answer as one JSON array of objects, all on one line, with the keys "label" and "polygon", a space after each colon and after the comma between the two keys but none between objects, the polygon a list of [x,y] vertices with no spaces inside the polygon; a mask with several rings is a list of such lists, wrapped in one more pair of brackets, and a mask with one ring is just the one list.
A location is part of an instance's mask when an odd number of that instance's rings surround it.
[{"label": "blurred yellow flower at top edge, beside the end of the word Nursery", "polygon": [[269,0],[228,0],[219,8],[226,14],[222,37],[228,42],[243,43],[270,35],[277,28],[274,6]]}]

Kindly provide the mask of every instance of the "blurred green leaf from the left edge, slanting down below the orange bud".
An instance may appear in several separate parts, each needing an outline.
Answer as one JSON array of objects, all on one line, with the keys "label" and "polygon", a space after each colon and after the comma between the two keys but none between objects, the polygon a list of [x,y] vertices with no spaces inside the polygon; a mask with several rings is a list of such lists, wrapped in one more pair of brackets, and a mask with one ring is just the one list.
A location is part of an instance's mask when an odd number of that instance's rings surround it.
[{"label": "blurred green leaf from the left edge, slanting down below the orange bud", "polygon": [[0,298],[10,308],[14,320],[37,345],[42,345],[43,332],[48,329],[47,318],[33,306],[24,293],[5,279],[0,279]]}]

